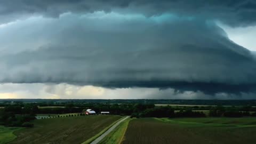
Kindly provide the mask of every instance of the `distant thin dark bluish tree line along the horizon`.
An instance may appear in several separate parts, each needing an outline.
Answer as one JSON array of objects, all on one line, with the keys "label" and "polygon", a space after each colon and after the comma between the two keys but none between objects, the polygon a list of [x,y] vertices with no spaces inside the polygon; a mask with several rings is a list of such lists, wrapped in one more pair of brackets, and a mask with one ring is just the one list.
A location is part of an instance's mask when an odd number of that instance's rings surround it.
[{"label": "distant thin dark bluish tree line along the horizon", "polygon": [[178,104],[178,105],[216,105],[216,106],[256,106],[256,100],[179,100],[179,99],[2,99],[0,107],[9,103],[37,103],[38,106],[65,106],[74,103],[75,107],[85,107],[87,103],[144,103],[144,104]]}]

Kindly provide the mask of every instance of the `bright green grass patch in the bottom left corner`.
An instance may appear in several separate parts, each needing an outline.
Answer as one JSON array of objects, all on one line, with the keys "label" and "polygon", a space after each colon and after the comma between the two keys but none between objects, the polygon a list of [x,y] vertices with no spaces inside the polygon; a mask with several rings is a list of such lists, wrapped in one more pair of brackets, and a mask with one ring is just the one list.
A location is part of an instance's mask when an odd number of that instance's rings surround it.
[{"label": "bright green grass patch in the bottom left corner", "polygon": [[13,132],[20,129],[22,128],[0,126],[0,144],[4,144],[14,140],[16,138],[16,135],[14,135]]}]

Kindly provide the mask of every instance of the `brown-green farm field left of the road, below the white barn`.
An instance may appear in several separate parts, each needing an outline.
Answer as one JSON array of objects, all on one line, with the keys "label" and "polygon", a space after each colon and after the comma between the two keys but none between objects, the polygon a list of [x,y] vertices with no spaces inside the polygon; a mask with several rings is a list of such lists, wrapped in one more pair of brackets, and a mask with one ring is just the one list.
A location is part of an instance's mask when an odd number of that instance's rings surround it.
[{"label": "brown-green farm field left of the road, below the white barn", "polygon": [[96,115],[37,119],[35,127],[15,131],[11,143],[82,143],[121,116]]}]

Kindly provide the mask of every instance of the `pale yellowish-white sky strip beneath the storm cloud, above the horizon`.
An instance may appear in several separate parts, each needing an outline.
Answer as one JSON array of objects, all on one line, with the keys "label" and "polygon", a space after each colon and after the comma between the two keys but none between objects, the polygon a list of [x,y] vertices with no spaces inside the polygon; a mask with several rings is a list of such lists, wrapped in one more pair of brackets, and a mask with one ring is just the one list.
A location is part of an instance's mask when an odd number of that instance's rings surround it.
[{"label": "pale yellowish-white sky strip beneath the storm cloud, above the horizon", "polygon": [[159,90],[157,88],[135,87],[107,89],[91,85],[70,84],[13,84],[0,85],[0,99],[254,99],[254,93],[215,93],[201,91]]}]

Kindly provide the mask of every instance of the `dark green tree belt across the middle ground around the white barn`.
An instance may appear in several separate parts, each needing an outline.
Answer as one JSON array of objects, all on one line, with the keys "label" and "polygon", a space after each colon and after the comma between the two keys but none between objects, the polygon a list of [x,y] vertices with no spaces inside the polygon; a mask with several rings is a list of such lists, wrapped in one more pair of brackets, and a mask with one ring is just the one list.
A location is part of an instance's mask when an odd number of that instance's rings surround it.
[{"label": "dark green tree belt across the middle ground around the white barn", "polygon": [[[22,104],[23,105],[23,104]],[[84,109],[93,109],[98,114],[100,111],[109,111],[111,115],[131,115],[132,117],[205,117],[205,113],[197,107],[156,107],[154,104],[143,103],[87,103],[84,107],[76,107],[74,103],[68,103],[65,107],[38,108],[37,103],[27,103],[26,105],[6,105],[0,109],[0,125],[5,126],[26,126],[35,119],[36,114],[68,114],[82,113]],[[223,107],[210,106],[209,116],[211,117],[243,117],[256,116],[251,113],[255,107]],[[196,110],[195,110],[196,109]]]}]

